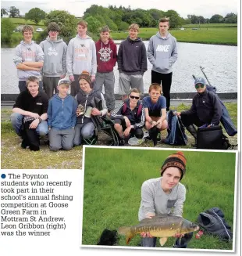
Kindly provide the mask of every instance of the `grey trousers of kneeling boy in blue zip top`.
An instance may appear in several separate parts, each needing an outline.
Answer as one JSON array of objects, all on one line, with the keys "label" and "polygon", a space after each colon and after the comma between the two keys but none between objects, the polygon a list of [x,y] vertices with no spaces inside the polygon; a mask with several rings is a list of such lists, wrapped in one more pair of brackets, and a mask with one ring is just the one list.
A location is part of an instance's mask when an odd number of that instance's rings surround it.
[{"label": "grey trousers of kneeling boy in blue zip top", "polygon": [[48,132],[50,150],[57,151],[60,149],[70,150],[73,148],[73,139],[75,135],[74,128],[66,130],[56,130],[52,128]]}]

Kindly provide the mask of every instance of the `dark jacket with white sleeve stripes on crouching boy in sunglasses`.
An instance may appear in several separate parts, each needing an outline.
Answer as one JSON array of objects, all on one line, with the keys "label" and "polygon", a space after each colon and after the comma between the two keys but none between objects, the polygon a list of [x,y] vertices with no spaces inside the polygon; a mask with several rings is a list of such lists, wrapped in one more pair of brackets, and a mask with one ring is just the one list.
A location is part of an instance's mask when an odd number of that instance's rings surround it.
[{"label": "dark jacket with white sleeve stripes on crouching boy in sunglasses", "polygon": [[[126,104],[126,107],[123,108],[123,105]],[[144,126],[145,116],[144,116],[144,107],[142,107],[141,113],[137,115],[141,101],[138,101],[137,106],[131,110],[130,109],[130,99],[126,99],[124,103],[121,103],[112,111],[112,119],[121,119],[123,117],[128,117],[130,123],[133,125],[133,129],[142,128]],[[123,111],[124,110],[124,111]]]}]

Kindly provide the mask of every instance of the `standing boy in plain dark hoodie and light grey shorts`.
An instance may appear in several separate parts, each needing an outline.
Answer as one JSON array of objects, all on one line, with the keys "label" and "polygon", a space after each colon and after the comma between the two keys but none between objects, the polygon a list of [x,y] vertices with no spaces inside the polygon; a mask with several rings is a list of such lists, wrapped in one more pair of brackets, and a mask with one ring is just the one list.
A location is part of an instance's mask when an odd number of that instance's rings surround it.
[{"label": "standing boy in plain dark hoodie and light grey shorts", "polygon": [[144,92],[143,75],[147,70],[147,56],[144,42],[137,38],[139,26],[135,23],[129,27],[129,36],[119,45],[119,94],[127,99],[130,87]]}]

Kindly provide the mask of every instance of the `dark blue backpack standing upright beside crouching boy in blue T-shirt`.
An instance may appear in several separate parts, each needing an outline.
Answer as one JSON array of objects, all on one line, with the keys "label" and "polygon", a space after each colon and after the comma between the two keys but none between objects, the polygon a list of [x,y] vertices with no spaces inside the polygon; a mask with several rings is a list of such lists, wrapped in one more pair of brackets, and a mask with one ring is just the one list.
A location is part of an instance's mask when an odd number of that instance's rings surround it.
[{"label": "dark blue backpack standing upright beside crouching boy in blue T-shirt", "polygon": [[187,135],[185,134],[185,128],[183,126],[180,117],[174,115],[173,110],[169,110],[169,114],[167,117],[168,135],[166,136],[164,142],[169,145],[176,146],[185,146],[187,145]]}]

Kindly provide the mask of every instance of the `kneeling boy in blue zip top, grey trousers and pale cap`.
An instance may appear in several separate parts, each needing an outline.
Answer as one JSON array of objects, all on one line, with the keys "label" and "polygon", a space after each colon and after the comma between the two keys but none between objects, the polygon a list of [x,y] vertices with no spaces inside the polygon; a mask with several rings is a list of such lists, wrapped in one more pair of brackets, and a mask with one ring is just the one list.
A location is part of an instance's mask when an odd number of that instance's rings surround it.
[{"label": "kneeling boy in blue zip top, grey trousers and pale cap", "polygon": [[49,100],[48,138],[50,150],[70,150],[73,147],[75,125],[77,122],[77,100],[67,94],[70,81],[61,79],[58,83],[59,94]]}]

